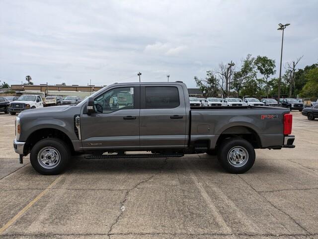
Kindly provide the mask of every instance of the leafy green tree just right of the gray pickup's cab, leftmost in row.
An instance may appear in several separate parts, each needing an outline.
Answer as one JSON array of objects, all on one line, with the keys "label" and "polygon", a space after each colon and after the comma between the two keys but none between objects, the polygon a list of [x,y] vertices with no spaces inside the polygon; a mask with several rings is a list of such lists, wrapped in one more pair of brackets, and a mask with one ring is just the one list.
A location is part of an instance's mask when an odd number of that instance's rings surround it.
[{"label": "leafy green tree just right of the gray pickup's cab, leftmost in row", "polygon": [[194,80],[201,91],[205,92],[206,96],[217,96],[218,82],[212,71],[207,71],[207,77],[205,79],[194,77]]}]

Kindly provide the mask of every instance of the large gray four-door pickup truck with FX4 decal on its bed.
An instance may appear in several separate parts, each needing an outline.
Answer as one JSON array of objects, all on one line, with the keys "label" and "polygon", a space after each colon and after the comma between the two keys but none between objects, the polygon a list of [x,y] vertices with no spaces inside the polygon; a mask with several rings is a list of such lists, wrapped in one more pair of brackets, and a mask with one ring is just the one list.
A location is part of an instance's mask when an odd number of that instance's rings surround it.
[{"label": "large gray four-door pickup truck with FX4 decal on its bed", "polygon": [[[254,149],[294,148],[292,115],[277,107],[190,107],[181,81],[115,83],[78,105],[31,109],[16,117],[14,150],[36,171],[62,172],[88,159],[217,155],[231,173],[255,161]],[[138,153],[147,152],[147,153]],[[74,162],[74,161],[73,161]]]}]

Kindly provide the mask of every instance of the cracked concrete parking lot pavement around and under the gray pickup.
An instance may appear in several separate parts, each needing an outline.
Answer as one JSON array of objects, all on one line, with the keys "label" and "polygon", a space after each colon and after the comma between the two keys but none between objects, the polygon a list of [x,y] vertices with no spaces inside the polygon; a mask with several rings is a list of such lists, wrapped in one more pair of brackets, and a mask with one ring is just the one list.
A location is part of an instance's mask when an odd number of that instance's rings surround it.
[{"label": "cracked concrete parking lot pavement around and under the gray pickup", "polygon": [[318,121],[293,115],[297,148],[257,150],[244,174],[202,154],[77,158],[43,176],[18,163],[0,114],[0,237],[318,239]]}]

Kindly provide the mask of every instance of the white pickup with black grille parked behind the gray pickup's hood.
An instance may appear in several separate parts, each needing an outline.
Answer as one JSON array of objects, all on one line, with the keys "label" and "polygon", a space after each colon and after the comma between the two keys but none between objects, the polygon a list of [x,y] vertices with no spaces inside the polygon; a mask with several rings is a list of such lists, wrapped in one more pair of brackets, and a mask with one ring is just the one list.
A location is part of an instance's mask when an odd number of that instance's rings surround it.
[{"label": "white pickup with black grille parked behind the gray pickup's hood", "polygon": [[17,100],[10,102],[9,112],[15,115],[26,109],[35,109],[43,107],[43,100],[40,95],[23,94]]}]

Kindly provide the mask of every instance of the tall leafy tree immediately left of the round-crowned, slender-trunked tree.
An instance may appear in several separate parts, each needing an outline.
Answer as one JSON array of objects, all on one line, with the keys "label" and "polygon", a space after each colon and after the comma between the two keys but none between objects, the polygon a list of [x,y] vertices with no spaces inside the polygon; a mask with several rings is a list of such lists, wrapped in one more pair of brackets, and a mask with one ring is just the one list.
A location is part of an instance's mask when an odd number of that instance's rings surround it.
[{"label": "tall leafy tree immediately left of the round-crowned, slender-trunked tree", "polygon": [[233,81],[231,82],[231,88],[235,89],[239,96],[239,91],[243,88],[246,80],[253,77],[254,74],[254,58],[251,54],[248,54],[244,60],[241,61],[241,67],[238,72],[233,74]]}]

